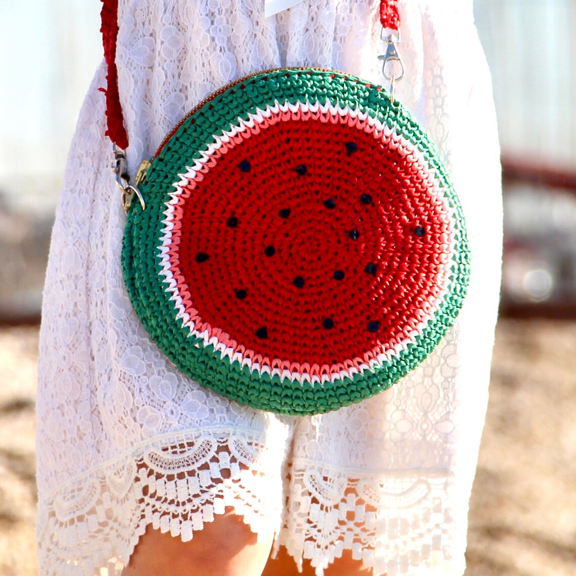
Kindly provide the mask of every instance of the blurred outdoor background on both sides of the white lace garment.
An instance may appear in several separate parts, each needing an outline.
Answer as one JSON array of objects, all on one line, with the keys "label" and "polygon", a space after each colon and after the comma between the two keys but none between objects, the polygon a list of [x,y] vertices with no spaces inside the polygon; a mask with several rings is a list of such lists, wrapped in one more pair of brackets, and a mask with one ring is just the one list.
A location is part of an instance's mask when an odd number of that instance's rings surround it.
[{"label": "blurred outdoor background on both sides of the white lace garment", "polygon": [[[99,2],[0,2],[0,576],[37,574],[41,287]],[[505,250],[466,576],[576,574],[576,2],[475,0],[502,143]],[[25,22],[25,33],[23,32]]]}]

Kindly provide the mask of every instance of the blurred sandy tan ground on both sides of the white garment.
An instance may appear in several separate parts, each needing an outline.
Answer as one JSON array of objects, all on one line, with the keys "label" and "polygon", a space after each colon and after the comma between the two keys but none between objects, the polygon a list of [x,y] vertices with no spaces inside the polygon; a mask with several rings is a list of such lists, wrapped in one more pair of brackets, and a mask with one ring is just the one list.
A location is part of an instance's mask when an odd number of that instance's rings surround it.
[{"label": "blurred sandy tan ground on both sides of the white garment", "polygon": [[[0,328],[0,575],[37,574],[37,329]],[[502,320],[466,576],[576,574],[576,323]]]}]

